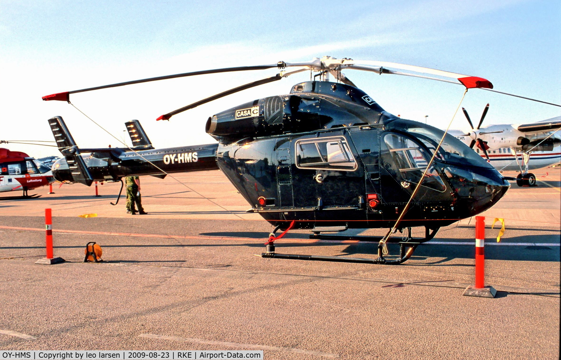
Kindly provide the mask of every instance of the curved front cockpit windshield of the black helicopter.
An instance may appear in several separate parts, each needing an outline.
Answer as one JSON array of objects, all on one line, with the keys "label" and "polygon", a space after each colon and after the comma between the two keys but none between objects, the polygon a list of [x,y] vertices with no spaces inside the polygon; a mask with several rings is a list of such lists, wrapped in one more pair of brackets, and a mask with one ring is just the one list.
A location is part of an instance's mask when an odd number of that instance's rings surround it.
[{"label": "curved front cockpit windshield of the black helicopter", "polygon": [[[444,135],[444,131],[433,126],[422,124],[414,121],[404,121],[401,119],[394,120],[388,124],[388,127],[410,133],[416,139],[419,139],[429,150],[431,155],[438,146],[440,139]],[[456,139],[456,137],[446,134],[444,141],[435,156],[436,159],[444,163],[475,165],[482,168],[493,168],[480,155],[470,149],[466,144]]]}]

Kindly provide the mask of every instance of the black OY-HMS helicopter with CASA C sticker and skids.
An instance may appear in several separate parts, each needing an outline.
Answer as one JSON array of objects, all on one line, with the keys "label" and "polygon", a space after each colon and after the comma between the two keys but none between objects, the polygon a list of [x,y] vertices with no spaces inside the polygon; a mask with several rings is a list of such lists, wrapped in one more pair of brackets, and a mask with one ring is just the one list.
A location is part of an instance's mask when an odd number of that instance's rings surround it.
[{"label": "black OY-HMS helicopter with CASA C sticker and skids", "polygon": [[[49,119],[64,155],[53,165],[54,177],[89,186],[93,181],[119,181],[131,175],[163,177],[171,172],[219,168],[251,205],[248,212],[258,213],[274,225],[264,257],[376,264],[407,260],[417,245],[432,239],[440,227],[489,209],[508,190],[509,182],[470,147],[435,127],[386,112],[341,70],[354,68],[442,80],[388,69],[393,67],[454,78],[456,81],[444,81],[463,84],[466,89],[493,87],[479,77],[324,57],[308,63],[279,62],[128,81],[43,99],[70,103],[70,94],[82,91],[273,67],[299,69],[224,91],[158,118],[169,119],[197,105],[292,73],[310,70],[321,76],[320,81],[294,85],[287,95],[249,101],[209,117],[206,132],[218,144],[154,149],[140,124],[132,121],[127,127],[134,130],[132,135],[138,135],[136,146],[80,149],[61,117]],[[337,82],[327,81],[329,74]],[[400,243],[401,252],[396,260],[383,257],[381,242],[379,257],[374,260],[274,251],[274,234],[279,229],[312,229],[319,233],[337,227],[391,228],[390,232],[406,229],[408,237]],[[425,227],[425,237],[411,238],[411,227]],[[390,232],[384,237],[384,244],[392,242]]]}]

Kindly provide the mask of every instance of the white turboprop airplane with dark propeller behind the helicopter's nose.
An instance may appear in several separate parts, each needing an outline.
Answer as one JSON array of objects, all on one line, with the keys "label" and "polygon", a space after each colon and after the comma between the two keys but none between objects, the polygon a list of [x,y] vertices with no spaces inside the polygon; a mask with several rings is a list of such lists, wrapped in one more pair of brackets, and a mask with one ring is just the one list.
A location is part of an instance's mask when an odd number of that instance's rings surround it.
[{"label": "white turboprop airplane with dark propeller behind the helicopter's nose", "polygon": [[535,123],[481,127],[488,109],[489,104],[474,128],[466,109],[462,108],[471,129],[450,130],[450,135],[472,149],[475,145],[475,151],[497,170],[519,170],[516,178],[518,186],[536,186],[536,176],[528,170],[561,161],[561,116]]}]

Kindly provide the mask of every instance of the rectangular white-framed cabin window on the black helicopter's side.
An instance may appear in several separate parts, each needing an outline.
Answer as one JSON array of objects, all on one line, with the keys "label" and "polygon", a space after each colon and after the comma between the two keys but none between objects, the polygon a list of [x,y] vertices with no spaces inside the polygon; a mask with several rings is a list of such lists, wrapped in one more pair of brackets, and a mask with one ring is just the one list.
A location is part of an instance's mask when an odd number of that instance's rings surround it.
[{"label": "rectangular white-framed cabin window on the black helicopter's side", "polygon": [[356,170],[357,165],[344,137],[298,140],[296,167],[301,169]]}]

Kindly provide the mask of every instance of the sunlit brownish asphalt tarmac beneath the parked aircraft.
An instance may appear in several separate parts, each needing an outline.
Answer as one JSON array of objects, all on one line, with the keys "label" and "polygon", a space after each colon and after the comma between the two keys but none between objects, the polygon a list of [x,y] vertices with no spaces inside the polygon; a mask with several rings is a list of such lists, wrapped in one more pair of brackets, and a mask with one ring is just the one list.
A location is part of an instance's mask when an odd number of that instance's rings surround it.
[{"label": "sunlit brownish asphalt tarmac beneath the parked aircraft", "polygon": [[[265,359],[557,359],[559,168],[536,170],[486,211],[485,283],[474,282],[474,220],[441,229],[402,265],[263,259],[271,227],[219,171],[141,178],[149,215],[125,213],[118,184],[48,187],[0,200],[0,349],[264,350]],[[507,174],[512,176],[512,174]],[[183,184],[182,184],[183,183]],[[31,192],[30,192],[31,193]],[[6,195],[3,193],[2,195]],[[11,194],[7,194],[11,195]],[[56,265],[45,256],[53,211]],[[78,215],[96,214],[79,218]],[[493,218],[505,218],[500,243]],[[376,237],[383,229],[339,235]],[[104,262],[84,263],[87,242]],[[375,257],[369,241],[291,231],[277,252]],[[390,252],[396,248],[390,246]]]}]

